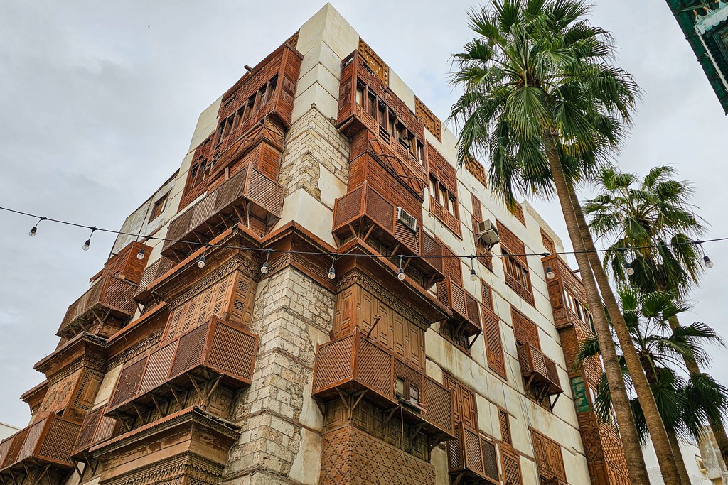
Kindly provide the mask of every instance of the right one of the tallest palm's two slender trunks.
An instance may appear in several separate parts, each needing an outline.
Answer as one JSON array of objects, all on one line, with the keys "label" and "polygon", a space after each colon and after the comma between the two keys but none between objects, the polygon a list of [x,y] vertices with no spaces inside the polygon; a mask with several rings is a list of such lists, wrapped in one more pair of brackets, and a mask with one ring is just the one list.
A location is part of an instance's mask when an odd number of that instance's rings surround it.
[{"label": "right one of the tallest palm's two slender trunks", "polygon": [[[596,252],[596,247],[594,246],[594,241],[591,233],[589,232],[584,212],[582,212],[581,205],[579,204],[579,199],[577,199],[577,194],[574,192],[574,188],[571,187],[571,185],[567,185],[567,191],[569,202],[573,207],[574,218],[577,220],[576,227],[582,236],[587,260],[590,263],[597,284],[599,285],[601,296],[604,298],[606,310],[612,318],[612,326],[614,327],[614,332],[617,334],[617,340],[620,342],[622,356],[625,358],[625,363],[629,369],[630,377],[632,377],[632,383],[634,385],[635,392],[637,393],[638,401],[642,408],[642,412],[644,412],[649,436],[652,439],[654,452],[657,454],[657,462],[660,465],[662,479],[665,481],[665,485],[679,485],[680,476],[675,464],[675,457],[673,457],[672,447],[670,446],[668,434],[665,431],[665,425],[662,423],[662,417],[660,417],[660,412],[657,410],[657,403],[654,401],[654,394],[652,394],[652,389],[649,387],[649,382],[647,382],[647,377],[642,369],[634,342],[632,341],[630,332],[625,324],[625,319],[622,316],[620,305],[617,303],[617,298],[614,297],[612,287],[609,286],[609,278],[607,278],[604,266]],[[576,250],[576,248],[574,248],[574,250]],[[626,446],[625,452],[627,452]]]}]

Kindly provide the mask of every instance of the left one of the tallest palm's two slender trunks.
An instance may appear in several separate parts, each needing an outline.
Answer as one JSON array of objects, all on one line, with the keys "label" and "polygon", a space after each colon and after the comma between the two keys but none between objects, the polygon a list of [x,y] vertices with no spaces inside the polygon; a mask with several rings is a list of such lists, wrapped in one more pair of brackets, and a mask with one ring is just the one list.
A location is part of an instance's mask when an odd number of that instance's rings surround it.
[{"label": "left one of the tallest palm's two slender trunks", "polygon": [[[612,393],[612,404],[614,405],[617,424],[619,425],[622,436],[622,445],[625,449],[625,460],[630,475],[630,482],[632,485],[649,485],[649,476],[647,474],[647,468],[644,465],[644,457],[637,435],[634,416],[630,407],[630,400],[627,396],[625,381],[622,377],[619,360],[617,359],[617,349],[614,347],[612,334],[609,330],[609,322],[606,321],[605,313],[596,310],[602,307],[601,297],[599,297],[596,281],[594,280],[587,255],[584,252],[584,243],[579,233],[579,225],[577,224],[574,209],[571,206],[571,199],[569,199],[569,186],[566,183],[563,167],[561,167],[561,159],[554,147],[555,144],[553,143],[547,147],[547,159],[553,174],[556,193],[561,203],[561,211],[566,221],[566,229],[569,231],[569,239],[571,239],[571,244],[574,246],[574,251],[576,252],[577,265],[579,266],[589,305],[595,309],[593,312],[594,327],[599,341],[602,360],[604,361],[604,372],[609,382],[609,390]],[[678,485],[677,481],[665,483],[666,485]]]}]

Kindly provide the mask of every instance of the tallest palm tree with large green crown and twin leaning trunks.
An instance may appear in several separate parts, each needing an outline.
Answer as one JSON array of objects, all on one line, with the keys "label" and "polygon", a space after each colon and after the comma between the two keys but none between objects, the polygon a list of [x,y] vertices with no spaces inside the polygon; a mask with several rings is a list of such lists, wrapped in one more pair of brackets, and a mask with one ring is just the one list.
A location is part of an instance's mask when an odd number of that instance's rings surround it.
[{"label": "tallest palm tree with large green crown and twin leaning trunks", "polygon": [[[595,280],[601,262],[590,262],[585,252],[593,241],[583,215],[581,220],[577,217],[581,211],[574,207],[571,187],[594,175],[617,149],[639,88],[628,73],[609,64],[612,39],[585,20],[588,12],[589,7],[578,0],[496,0],[491,10],[471,12],[470,28],[478,36],[454,56],[459,71],[453,81],[464,87],[464,93],[453,106],[452,118],[462,124],[459,159],[488,153],[491,188],[507,201],[513,200],[515,191],[543,196],[556,192],[589,305],[601,308]],[[633,375],[665,484],[677,485],[678,472],[649,382],[612,289],[609,284],[600,288]],[[646,485],[649,478],[606,316],[595,311],[594,324],[630,479]]]}]

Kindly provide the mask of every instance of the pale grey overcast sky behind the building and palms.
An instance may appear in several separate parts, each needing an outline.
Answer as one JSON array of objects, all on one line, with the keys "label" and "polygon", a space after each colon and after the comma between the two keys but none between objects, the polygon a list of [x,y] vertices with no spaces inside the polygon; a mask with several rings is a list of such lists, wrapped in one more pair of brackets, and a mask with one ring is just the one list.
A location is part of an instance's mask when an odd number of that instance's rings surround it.
[{"label": "pale grey overcast sky behind the building and palms", "polygon": [[[664,0],[597,0],[618,63],[646,91],[620,164],[673,164],[693,180],[708,237],[728,236],[728,121]],[[448,58],[470,32],[470,1],[333,2],[440,119],[457,93]],[[119,228],[179,167],[199,112],[279,46],[320,1],[3,1],[0,4],[0,206]],[[531,201],[563,239],[555,202]],[[0,213],[0,421],[25,426],[21,393],[55,348],[68,304],[103,265],[113,237]],[[565,241],[568,242],[568,241]],[[690,321],[728,337],[728,242]],[[728,356],[713,375],[728,384]]]}]

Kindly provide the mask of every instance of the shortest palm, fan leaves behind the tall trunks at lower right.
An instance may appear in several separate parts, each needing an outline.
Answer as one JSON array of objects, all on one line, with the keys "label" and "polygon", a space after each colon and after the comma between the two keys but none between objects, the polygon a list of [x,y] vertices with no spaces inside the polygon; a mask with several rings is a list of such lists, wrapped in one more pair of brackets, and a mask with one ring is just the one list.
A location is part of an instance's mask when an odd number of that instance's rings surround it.
[{"label": "shortest palm, fan leaves behind the tall trunks at lower right", "polygon": [[[679,439],[698,438],[707,422],[720,420],[721,414],[728,412],[728,389],[708,374],[689,373],[689,379],[684,380],[681,373],[687,373],[686,361],[708,361],[704,345],[716,343],[724,346],[724,342],[703,323],[689,326],[670,324],[673,317],[688,308],[676,304],[674,295],[669,292],[641,293],[633,287],[622,286],[619,296],[625,322],[668,431],[681,481],[689,485],[690,477],[680,453]],[[579,349],[577,362],[595,358],[598,353],[597,340],[587,339]],[[624,365],[622,372],[630,387],[630,374]],[[598,416],[609,420],[611,396],[605,384],[603,377],[594,404]],[[633,398],[631,402],[638,433],[646,442],[648,433],[644,413],[637,399]]]}]

